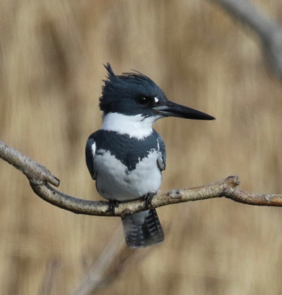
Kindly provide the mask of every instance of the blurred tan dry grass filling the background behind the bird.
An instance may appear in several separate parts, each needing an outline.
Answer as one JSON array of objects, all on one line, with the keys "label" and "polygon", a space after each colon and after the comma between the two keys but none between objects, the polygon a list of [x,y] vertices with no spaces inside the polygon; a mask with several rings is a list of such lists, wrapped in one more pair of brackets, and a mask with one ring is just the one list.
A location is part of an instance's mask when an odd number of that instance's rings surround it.
[{"label": "blurred tan dry grass filling the background behind the bird", "polygon": [[[280,0],[255,2],[281,19]],[[217,118],[156,123],[167,148],[162,191],[238,174],[242,189],[282,193],[282,84],[257,41],[204,0],[1,0],[1,140],[47,166],[61,191],[100,199],[84,148],[101,126],[109,61]],[[4,161],[0,177],[0,294],[40,294],[54,263],[50,294],[70,294],[120,220],[42,201]],[[282,294],[281,208],[212,199],[158,213],[165,241],[97,294]]]}]

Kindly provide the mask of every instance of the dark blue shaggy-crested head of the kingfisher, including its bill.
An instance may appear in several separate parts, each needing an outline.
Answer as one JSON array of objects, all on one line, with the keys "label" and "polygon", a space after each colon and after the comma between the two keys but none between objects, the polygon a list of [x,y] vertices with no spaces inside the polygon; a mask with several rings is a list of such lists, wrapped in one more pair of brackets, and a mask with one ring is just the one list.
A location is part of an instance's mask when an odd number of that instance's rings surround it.
[{"label": "dark blue shaggy-crested head of the kingfisher, including its bill", "polygon": [[100,97],[100,109],[104,115],[119,113],[126,116],[141,115],[155,118],[179,117],[185,119],[214,120],[205,113],[169,101],[164,92],[147,76],[136,73],[123,73],[116,76],[111,65],[105,65],[107,80]]}]

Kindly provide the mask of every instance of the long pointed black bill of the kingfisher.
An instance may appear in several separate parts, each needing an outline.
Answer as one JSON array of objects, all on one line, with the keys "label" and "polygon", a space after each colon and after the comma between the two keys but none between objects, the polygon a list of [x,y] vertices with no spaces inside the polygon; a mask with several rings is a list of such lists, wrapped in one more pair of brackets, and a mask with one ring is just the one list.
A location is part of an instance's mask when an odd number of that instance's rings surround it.
[{"label": "long pointed black bill of the kingfisher", "polygon": [[172,101],[167,101],[164,106],[156,106],[153,110],[164,117],[179,117],[194,120],[215,120],[214,117],[208,114],[190,109],[187,106],[176,104]]}]

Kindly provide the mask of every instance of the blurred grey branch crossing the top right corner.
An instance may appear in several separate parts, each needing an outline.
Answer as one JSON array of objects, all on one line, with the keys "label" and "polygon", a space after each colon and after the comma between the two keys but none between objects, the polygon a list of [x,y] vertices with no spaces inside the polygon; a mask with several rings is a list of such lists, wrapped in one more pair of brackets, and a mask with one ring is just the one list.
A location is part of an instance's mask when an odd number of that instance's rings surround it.
[{"label": "blurred grey branch crossing the top right corner", "polygon": [[213,0],[259,36],[263,52],[276,74],[282,79],[282,26],[266,17],[246,0]]}]

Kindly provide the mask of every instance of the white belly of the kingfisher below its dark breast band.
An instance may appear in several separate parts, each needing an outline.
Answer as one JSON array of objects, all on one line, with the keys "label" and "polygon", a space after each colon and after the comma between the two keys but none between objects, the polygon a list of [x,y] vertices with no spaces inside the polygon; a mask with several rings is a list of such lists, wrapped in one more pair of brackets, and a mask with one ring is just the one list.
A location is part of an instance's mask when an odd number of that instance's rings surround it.
[{"label": "white belly of the kingfisher below its dark breast band", "polygon": [[161,171],[157,165],[157,151],[150,152],[136,165],[135,170],[129,172],[126,165],[109,151],[101,151],[103,154],[96,154],[93,164],[97,171],[96,187],[103,198],[128,201],[158,191]]}]

